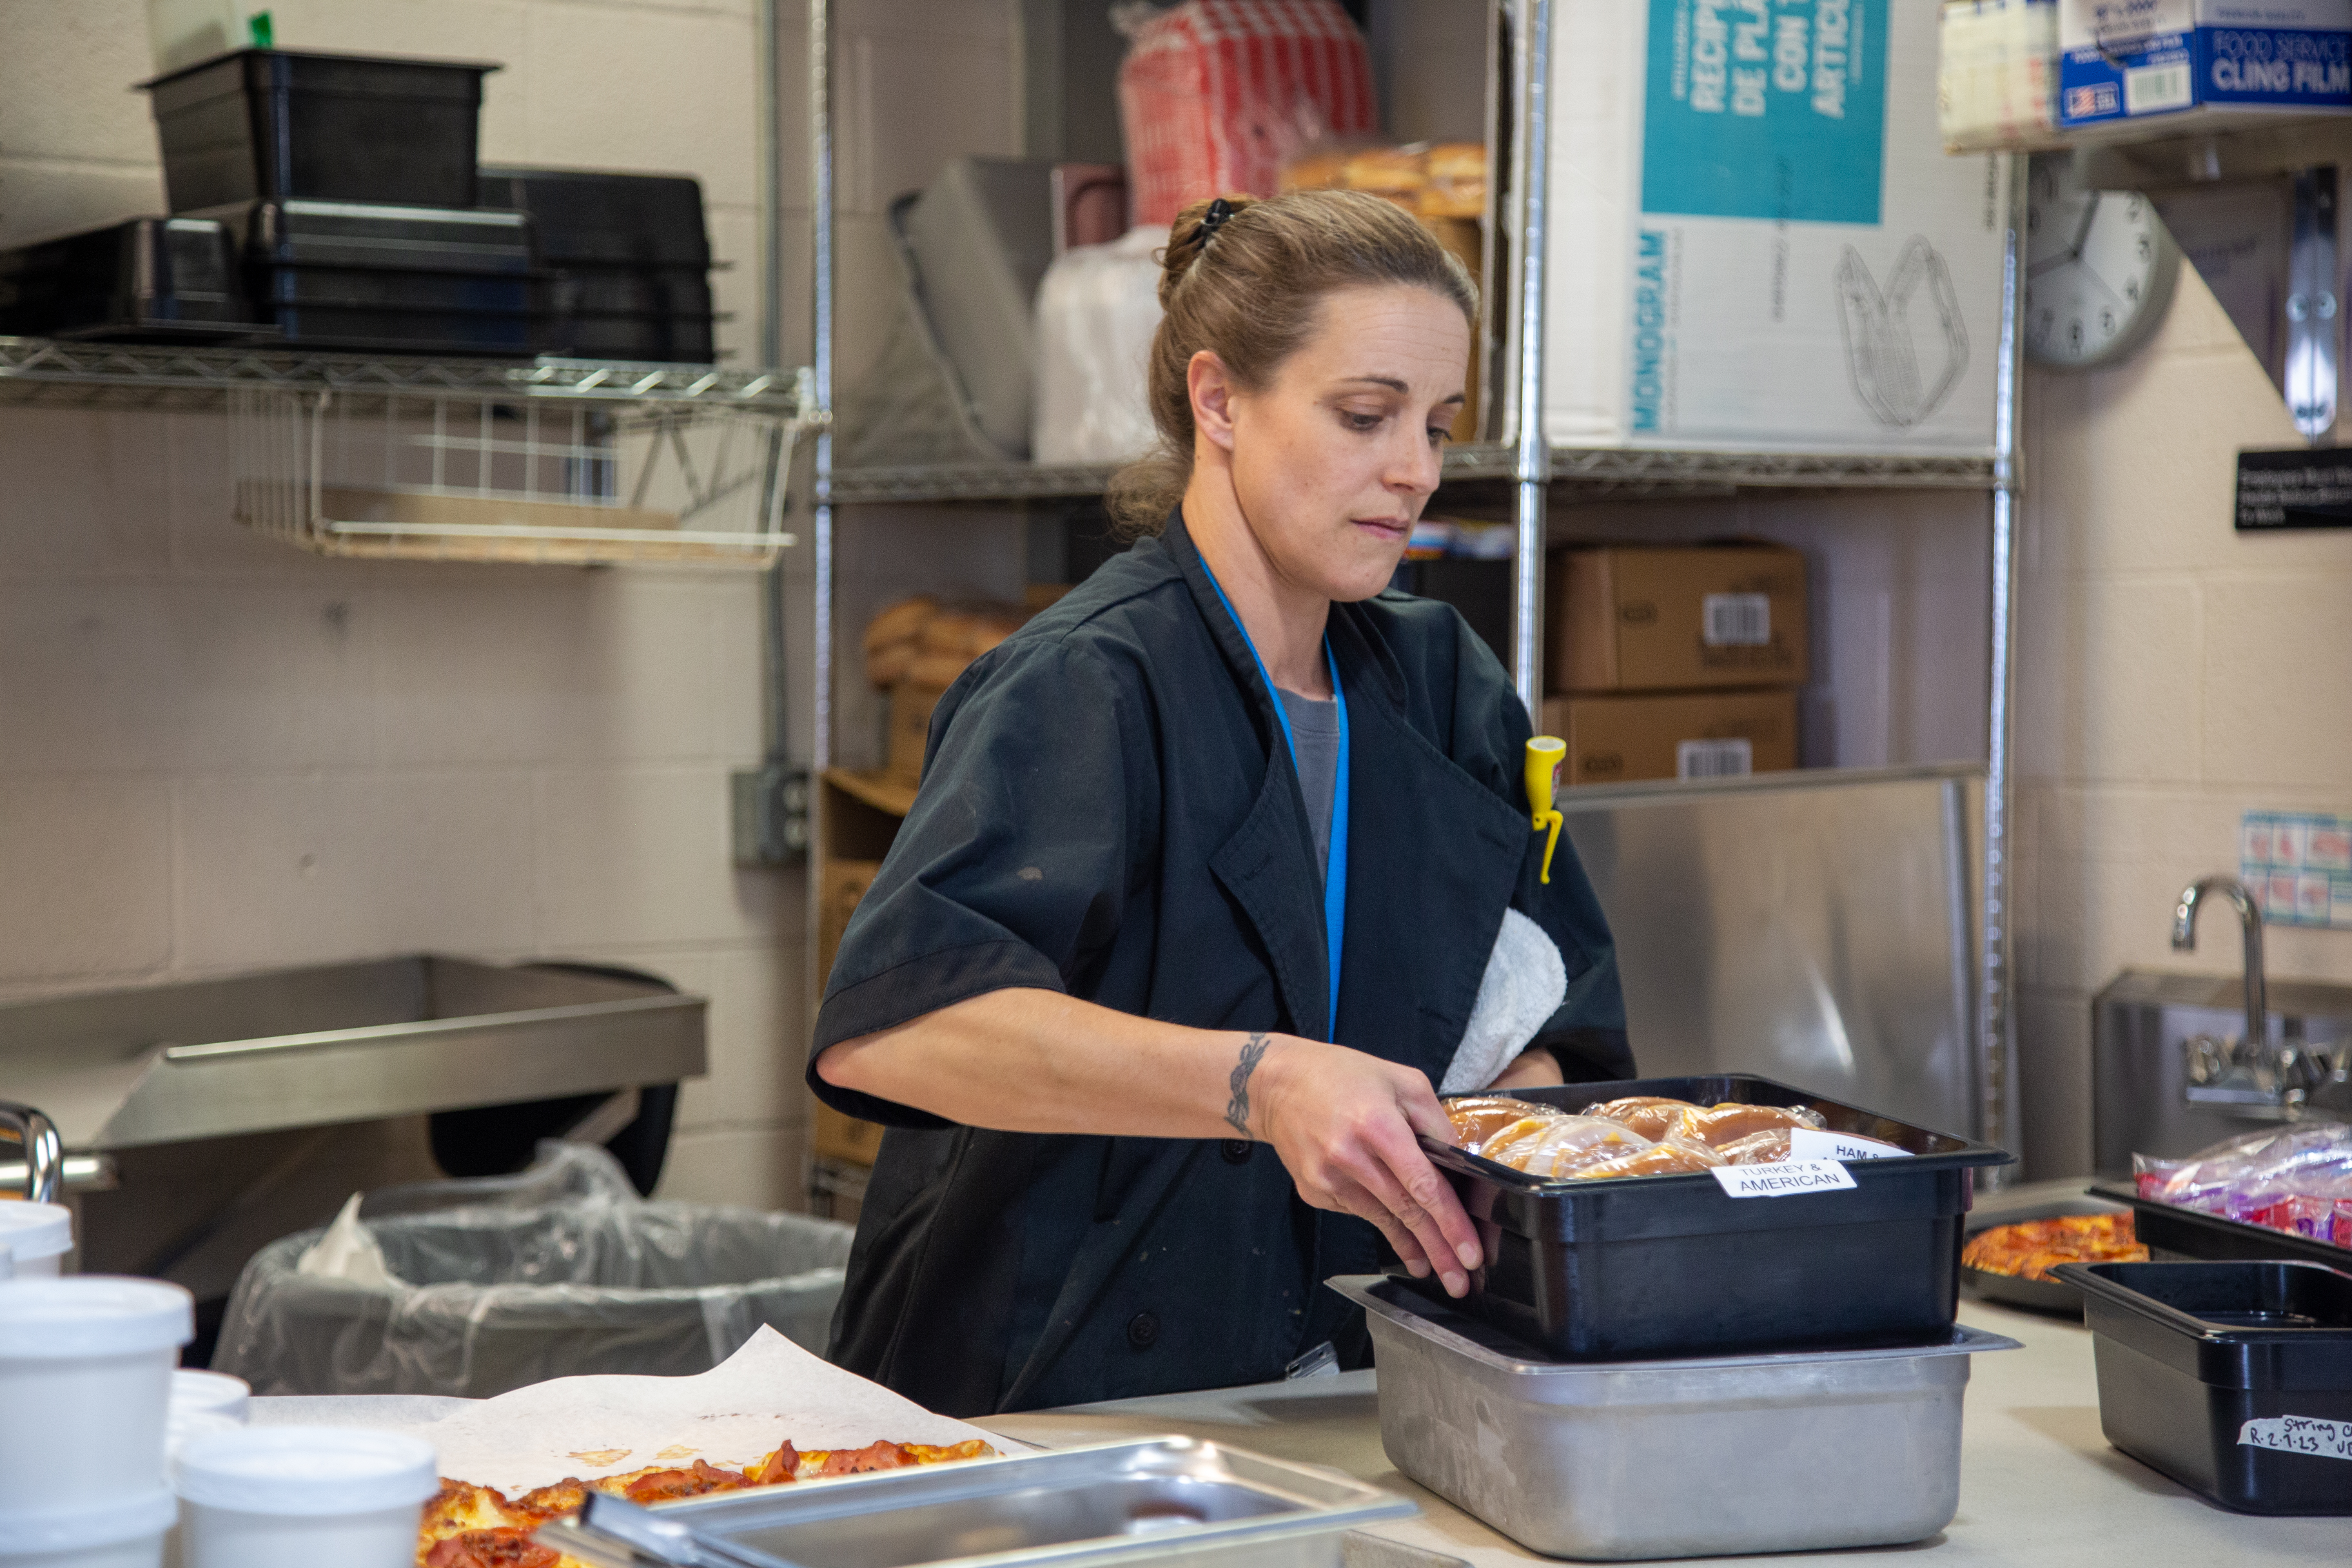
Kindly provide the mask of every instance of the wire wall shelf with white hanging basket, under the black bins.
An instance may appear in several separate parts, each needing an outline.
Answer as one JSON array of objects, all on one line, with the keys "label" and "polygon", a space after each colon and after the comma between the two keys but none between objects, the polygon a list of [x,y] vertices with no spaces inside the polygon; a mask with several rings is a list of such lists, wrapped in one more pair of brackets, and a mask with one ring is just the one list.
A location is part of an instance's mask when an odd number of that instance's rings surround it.
[{"label": "wire wall shelf with white hanging basket, under the black bins", "polygon": [[0,402],[226,409],[235,517],[362,559],[769,567],[811,371],[0,339]]}]

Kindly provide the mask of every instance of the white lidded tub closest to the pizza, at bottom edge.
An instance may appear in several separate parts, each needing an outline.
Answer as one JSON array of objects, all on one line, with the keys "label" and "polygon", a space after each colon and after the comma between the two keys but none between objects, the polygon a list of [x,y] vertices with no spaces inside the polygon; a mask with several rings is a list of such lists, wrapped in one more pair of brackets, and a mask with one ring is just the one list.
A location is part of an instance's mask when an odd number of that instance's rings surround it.
[{"label": "white lidded tub closest to the pizza, at bottom edge", "polygon": [[433,1443],[350,1427],[238,1427],[181,1443],[186,1568],[412,1568]]}]

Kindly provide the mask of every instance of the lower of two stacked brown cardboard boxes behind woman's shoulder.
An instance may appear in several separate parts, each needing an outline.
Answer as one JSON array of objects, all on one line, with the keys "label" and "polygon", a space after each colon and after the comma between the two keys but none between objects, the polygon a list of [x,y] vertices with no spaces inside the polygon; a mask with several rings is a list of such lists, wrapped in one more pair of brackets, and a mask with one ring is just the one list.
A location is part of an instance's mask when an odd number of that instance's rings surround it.
[{"label": "lower of two stacked brown cardboard boxes behind woman's shoulder", "polygon": [[1552,696],[1543,731],[1569,743],[1569,785],[1776,773],[1797,766],[1797,693]]}]

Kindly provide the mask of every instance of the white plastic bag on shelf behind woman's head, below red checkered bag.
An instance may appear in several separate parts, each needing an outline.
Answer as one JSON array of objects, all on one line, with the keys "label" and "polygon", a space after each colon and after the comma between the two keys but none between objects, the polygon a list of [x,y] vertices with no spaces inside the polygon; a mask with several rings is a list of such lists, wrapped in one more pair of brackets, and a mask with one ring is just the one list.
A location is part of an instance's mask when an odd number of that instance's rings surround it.
[{"label": "white plastic bag on shelf behind woman's head, below red checkered bag", "polygon": [[1167,228],[1129,228],[1110,244],[1075,244],[1044,270],[1030,430],[1037,463],[1124,463],[1157,440],[1143,378],[1167,242]]}]

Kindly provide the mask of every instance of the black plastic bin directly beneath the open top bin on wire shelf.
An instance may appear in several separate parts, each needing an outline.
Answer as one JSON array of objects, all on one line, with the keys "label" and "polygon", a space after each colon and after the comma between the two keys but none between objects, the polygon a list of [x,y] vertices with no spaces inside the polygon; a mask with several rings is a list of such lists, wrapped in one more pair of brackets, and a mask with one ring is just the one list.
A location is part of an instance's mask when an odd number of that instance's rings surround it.
[{"label": "black plastic bin directly beneath the open top bin on wire shelf", "polygon": [[247,202],[247,289],[289,343],[529,357],[546,270],[522,212]]}]

